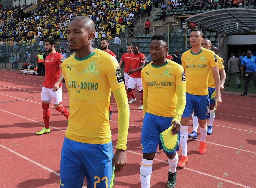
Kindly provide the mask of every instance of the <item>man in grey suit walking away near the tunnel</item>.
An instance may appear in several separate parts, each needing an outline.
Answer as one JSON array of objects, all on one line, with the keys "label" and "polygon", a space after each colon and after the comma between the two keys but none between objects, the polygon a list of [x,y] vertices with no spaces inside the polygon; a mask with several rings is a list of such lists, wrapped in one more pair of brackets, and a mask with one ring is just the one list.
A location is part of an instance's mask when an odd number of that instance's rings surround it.
[{"label": "man in grey suit walking away near the tunnel", "polygon": [[231,78],[231,75],[233,74],[235,77],[236,84],[238,87],[241,87],[240,80],[237,76],[237,73],[239,73],[239,66],[240,66],[240,60],[236,57],[234,57],[234,54],[232,53],[231,58],[228,60],[228,76],[226,79],[226,86],[229,86],[229,80]]}]

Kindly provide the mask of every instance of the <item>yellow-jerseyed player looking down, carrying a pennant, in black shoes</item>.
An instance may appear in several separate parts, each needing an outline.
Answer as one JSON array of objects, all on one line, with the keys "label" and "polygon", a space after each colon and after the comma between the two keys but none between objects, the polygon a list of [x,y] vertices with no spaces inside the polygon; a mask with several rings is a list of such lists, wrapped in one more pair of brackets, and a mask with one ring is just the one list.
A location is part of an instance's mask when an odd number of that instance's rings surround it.
[{"label": "yellow-jerseyed player looking down, carrying a pennant, in black shoes", "polygon": [[[142,188],[150,188],[152,164],[156,149],[163,149],[159,134],[174,124],[172,134],[180,135],[180,120],[186,103],[185,74],[181,65],[165,58],[168,52],[167,38],[154,35],[150,43],[152,62],[141,71],[143,97],[143,126],[141,147],[143,157],[140,167]],[[167,187],[176,185],[179,142],[173,152],[166,153],[169,163]]]}]

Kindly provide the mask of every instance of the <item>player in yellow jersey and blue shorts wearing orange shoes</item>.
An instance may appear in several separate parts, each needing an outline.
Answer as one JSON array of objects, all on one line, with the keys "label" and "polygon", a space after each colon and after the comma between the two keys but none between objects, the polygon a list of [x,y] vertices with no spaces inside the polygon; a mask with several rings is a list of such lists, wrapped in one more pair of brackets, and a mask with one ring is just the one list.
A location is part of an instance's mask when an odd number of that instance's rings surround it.
[{"label": "player in yellow jersey and blue shorts wearing orange shoes", "polygon": [[199,153],[206,152],[205,138],[207,136],[207,118],[210,118],[209,106],[210,98],[208,96],[208,77],[210,70],[213,73],[214,86],[216,89],[215,103],[216,107],[221,100],[221,80],[219,78],[218,60],[214,52],[201,46],[203,33],[195,28],[191,30],[189,41],[191,49],[184,52],[181,57],[182,67],[186,76],[186,107],[181,118],[181,149],[182,157],[178,162],[178,167],[184,168],[188,162],[187,157],[187,139],[189,118],[194,110],[198,117],[201,139]]}]

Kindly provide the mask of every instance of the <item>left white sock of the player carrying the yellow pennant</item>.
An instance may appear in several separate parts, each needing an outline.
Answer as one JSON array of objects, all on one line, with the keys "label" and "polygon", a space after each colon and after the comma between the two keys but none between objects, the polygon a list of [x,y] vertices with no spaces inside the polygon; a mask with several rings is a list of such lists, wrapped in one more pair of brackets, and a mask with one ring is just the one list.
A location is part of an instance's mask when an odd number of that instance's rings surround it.
[{"label": "left white sock of the player carrying the yellow pennant", "polygon": [[152,174],[153,160],[143,159],[140,165],[141,188],[150,188],[150,178]]}]

